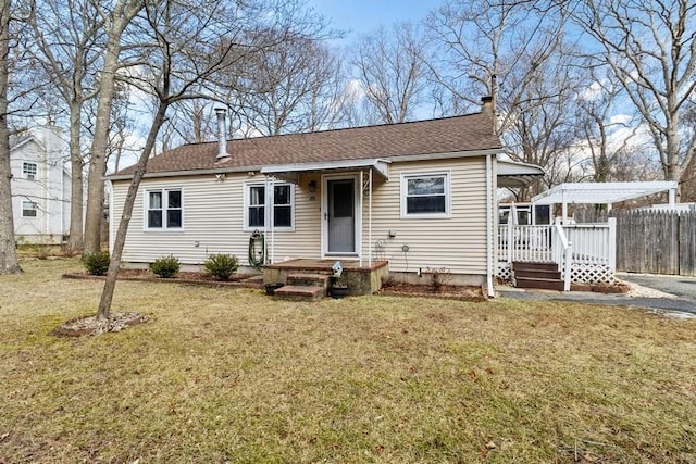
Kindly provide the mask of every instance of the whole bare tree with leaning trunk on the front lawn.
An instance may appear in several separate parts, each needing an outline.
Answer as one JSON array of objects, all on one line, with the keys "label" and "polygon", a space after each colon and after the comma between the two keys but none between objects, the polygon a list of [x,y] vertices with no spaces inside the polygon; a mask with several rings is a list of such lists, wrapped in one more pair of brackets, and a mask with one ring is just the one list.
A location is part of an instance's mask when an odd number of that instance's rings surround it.
[{"label": "whole bare tree with leaning trunk on the front lawn", "polygon": [[[270,13],[278,9],[291,13],[274,20],[274,15]],[[251,54],[309,33],[312,27],[310,23],[302,22],[297,3],[286,0],[253,4],[219,0],[202,3],[200,0],[151,0],[145,5],[138,25],[140,34],[145,32],[149,35],[149,46],[141,49],[141,64],[129,73],[128,81],[153,97],[156,111],[126,193],[97,312],[98,319],[110,316],[116,275],[138,187],[169,108],[190,99],[214,99],[212,95],[201,91],[208,84],[212,84],[210,79],[216,74],[225,68],[234,68],[238,63],[248,62]],[[269,29],[277,32],[271,40],[268,35],[258,34],[259,30]],[[220,37],[225,37],[225,40],[221,41]]]}]

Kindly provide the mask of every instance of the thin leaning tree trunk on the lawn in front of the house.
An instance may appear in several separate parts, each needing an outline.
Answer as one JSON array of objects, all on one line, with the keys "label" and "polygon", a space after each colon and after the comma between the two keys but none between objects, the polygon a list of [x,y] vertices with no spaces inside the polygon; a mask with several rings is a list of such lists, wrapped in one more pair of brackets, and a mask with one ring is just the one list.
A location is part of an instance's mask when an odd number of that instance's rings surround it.
[{"label": "thin leaning tree trunk on the lawn in front of the house", "polygon": [[123,247],[126,242],[126,234],[128,233],[128,224],[130,223],[133,206],[138,195],[140,180],[142,180],[142,176],[147,170],[148,160],[150,159],[150,154],[154,148],[157,134],[164,123],[164,115],[166,114],[167,108],[167,102],[160,102],[154,120],[152,121],[152,125],[150,126],[150,133],[148,134],[145,148],[142,149],[142,153],[140,153],[136,172],[133,175],[133,180],[130,180],[130,185],[128,186],[128,193],[126,195],[123,212],[121,213],[119,230],[116,231],[116,237],[113,242],[113,251],[111,252],[111,263],[109,264],[109,271],[107,273],[107,281],[104,283],[104,288],[101,292],[101,300],[99,301],[99,309],[97,310],[98,319],[108,319],[111,314],[111,302],[113,300],[114,289],[116,288],[116,277],[119,275],[119,268],[121,267],[121,256],[123,255]]}]

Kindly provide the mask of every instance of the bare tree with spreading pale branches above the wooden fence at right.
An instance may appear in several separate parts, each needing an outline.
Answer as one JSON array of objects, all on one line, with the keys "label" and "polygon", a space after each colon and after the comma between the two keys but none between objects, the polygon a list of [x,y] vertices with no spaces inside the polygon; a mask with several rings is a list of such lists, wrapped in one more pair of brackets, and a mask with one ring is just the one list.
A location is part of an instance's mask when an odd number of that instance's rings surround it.
[{"label": "bare tree with spreading pale branches above the wooden fence at right", "polygon": [[696,89],[696,3],[585,0],[572,16],[647,124],[664,178],[679,180],[696,149],[696,138],[682,133]]}]

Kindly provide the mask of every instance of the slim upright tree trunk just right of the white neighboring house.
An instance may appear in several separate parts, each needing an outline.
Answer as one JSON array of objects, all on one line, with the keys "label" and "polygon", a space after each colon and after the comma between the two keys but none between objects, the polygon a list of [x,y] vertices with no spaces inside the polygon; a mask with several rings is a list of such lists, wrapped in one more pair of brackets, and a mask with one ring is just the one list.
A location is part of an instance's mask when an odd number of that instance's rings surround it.
[{"label": "slim upright tree trunk just right of the white neighboring house", "polygon": [[83,154],[80,151],[80,115],[82,101],[74,99],[70,104],[70,166],[71,166],[71,197],[70,197],[70,237],[67,250],[71,253],[83,250]]}]

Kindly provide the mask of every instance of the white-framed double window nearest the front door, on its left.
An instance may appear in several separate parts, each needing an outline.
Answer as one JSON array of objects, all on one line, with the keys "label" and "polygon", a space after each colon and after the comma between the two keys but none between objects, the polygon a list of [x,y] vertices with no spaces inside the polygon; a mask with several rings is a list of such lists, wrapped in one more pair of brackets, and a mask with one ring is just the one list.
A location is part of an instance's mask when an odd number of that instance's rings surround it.
[{"label": "white-framed double window nearest the front door, on its left", "polygon": [[[266,186],[246,184],[245,186],[245,228],[258,229],[265,226]],[[270,188],[270,186],[269,186]],[[295,190],[293,185],[276,183],[273,186],[273,227],[293,228],[293,209]]]}]

